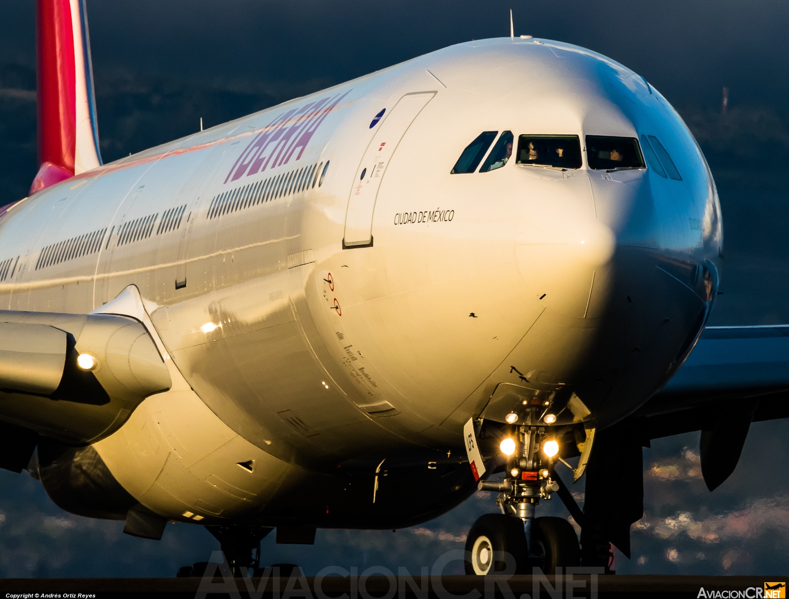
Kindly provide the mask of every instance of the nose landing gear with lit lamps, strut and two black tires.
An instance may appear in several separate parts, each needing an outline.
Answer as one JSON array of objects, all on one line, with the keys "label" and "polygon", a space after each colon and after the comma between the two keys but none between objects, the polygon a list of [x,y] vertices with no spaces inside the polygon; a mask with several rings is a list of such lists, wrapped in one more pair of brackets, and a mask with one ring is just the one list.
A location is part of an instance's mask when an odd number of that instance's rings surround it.
[{"label": "nose landing gear with lit lamps, strut and two black tires", "polygon": [[578,537],[570,522],[534,516],[540,500],[551,499],[552,492],[560,488],[559,481],[551,477],[551,458],[558,444],[546,426],[537,424],[538,410],[540,406],[529,406],[524,424],[515,427],[514,434],[502,442],[503,453],[509,455],[503,481],[480,481],[480,490],[499,492],[496,505],[501,514],[481,516],[469,530],[466,550],[471,553],[471,561],[466,562],[466,574],[504,571],[504,561],[495,559],[493,556],[500,554],[494,552],[509,553],[516,574],[531,573],[534,566],[555,574],[557,567],[580,565]]}]

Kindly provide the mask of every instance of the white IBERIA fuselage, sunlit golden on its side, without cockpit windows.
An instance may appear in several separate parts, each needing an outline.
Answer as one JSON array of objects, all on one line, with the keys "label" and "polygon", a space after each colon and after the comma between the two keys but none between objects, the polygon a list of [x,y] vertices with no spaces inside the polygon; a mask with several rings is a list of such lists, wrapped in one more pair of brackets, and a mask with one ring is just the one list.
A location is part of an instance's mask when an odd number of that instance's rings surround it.
[{"label": "white IBERIA fuselage, sunlit golden on its side, without cockpit windows", "polygon": [[[654,135],[682,181],[585,155],[450,174],[505,130]],[[0,219],[0,308],[88,313],[136,286],[182,379],[94,447],[152,511],[216,523],[348,459],[455,451],[503,382],[575,388],[599,425],[630,414],[679,366],[665,339],[709,308],[690,271],[715,270],[721,227],[701,152],[645,80],[489,39],[22,201]]]}]

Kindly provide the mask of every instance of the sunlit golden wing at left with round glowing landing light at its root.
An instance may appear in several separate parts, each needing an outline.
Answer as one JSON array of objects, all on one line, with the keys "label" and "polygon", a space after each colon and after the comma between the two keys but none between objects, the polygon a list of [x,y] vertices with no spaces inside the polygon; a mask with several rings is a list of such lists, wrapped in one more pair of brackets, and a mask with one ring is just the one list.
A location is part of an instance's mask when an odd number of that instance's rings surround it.
[{"label": "sunlit golden wing at left with round glowing landing light at its root", "polygon": [[3,421],[66,444],[91,444],[171,385],[151,335],[133,318],[0,313]]}]

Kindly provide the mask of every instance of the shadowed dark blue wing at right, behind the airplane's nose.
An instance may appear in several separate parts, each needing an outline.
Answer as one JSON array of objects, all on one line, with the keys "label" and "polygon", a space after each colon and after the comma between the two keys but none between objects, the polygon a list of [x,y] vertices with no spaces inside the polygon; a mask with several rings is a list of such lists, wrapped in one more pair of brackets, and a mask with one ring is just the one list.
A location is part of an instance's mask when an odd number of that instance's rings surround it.
[{"label": "shadowed dark blue wing at right, behind the airplane's nose", "polygon": [[789,325],[709,327],[669,383],[623,421],[642,443],[701,431],[710,491],[734,472],[753,421],[789,417]]}]

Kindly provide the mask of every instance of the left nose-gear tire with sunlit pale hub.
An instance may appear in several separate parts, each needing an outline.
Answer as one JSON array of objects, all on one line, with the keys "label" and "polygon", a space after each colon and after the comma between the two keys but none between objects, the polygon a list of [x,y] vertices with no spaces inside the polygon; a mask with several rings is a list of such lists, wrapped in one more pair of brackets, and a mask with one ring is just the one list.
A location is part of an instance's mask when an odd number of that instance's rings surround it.
[{"label": "left nose-gear tire with sunlit pale hub", "polygon": [[[576,541],[578,545],[578,541]],[[485,514],[474,522],[466,537],[466,574],[488,575],[503,572],[506,563],[494,560],[494,552],[506,552],[515,559],[515,574],[527,574],[529,550],[520,519],[503,514]]]}]

